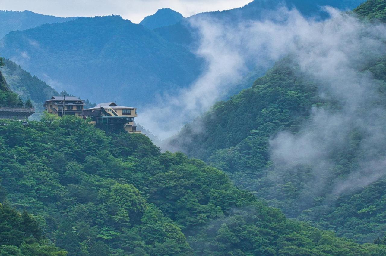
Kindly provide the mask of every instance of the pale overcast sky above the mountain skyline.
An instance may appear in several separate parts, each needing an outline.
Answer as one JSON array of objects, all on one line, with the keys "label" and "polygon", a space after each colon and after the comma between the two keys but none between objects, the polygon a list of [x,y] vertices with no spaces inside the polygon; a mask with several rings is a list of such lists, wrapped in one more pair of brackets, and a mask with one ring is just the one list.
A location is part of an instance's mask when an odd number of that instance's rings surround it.
[{"label": "pale overcast sky above the mountain skyline", "polygon": [[139,23],[160,8],[185,17],[207,11],[241,7],[252,0],[0,0],[1,10],[30,10],[61,17],[116,14]]}]

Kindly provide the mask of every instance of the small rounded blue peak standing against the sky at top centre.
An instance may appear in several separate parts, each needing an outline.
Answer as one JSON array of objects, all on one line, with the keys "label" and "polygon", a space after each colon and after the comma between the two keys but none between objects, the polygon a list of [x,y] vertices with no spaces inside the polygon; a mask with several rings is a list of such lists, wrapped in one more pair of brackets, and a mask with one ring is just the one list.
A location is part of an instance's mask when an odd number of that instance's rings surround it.
[{"label": "small rounded blue peak standing against the sky at top centre", "polygon": [[173,25],[183,18],[181,13],[169,8],[163,8],[157,10],[153,15],[146,16],[139,24],[146,28],[154,29]]}]

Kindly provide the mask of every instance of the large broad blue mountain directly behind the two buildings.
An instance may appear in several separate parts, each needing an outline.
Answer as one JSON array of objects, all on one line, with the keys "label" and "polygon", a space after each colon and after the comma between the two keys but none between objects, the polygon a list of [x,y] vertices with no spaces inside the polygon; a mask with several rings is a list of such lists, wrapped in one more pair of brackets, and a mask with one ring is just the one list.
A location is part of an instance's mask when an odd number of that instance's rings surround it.
[{"label": "large broad blue mountain directly behind the two buildings", "polygon": [[141,106],[189,85],[201,61],[186,47],[120,16],[78,18],[10,32],[4,57],[54,89]]}]

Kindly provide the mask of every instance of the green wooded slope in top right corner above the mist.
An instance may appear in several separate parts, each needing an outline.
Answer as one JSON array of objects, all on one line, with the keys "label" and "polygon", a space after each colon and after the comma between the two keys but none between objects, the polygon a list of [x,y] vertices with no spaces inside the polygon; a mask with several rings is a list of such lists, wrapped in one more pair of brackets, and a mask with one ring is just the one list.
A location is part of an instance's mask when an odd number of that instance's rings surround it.
[{"label": "green wooded slope in top right corner above the mist", "polygon": [[386,22],[386,2],[383,0],[367,0],[359,5],[354,12],[369,20]]}]

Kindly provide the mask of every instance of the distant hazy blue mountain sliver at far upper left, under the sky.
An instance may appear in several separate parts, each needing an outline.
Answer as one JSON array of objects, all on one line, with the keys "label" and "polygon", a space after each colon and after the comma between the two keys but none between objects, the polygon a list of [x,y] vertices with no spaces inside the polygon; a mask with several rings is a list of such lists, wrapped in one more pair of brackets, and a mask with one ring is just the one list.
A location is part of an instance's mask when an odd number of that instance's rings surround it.
[{"label": "distant hazy blue mountain sliver at far upper left, under the sky", "polygon": [[58,23],[73,20],[76,17],[61,18],[51,15],[42,15],[30,11],[0,11],[0,38],[11,31],[25,30],[39,27],[46,23]]}]

